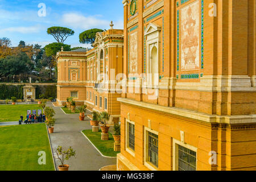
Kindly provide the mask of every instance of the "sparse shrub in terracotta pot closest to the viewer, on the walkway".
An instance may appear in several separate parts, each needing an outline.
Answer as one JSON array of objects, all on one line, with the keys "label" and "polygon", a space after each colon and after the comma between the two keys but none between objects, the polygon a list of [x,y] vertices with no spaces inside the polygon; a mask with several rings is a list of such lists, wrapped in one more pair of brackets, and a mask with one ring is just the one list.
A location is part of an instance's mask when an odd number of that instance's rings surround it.
[{"label": "sparse shrub in terracotta pot closest to the viewer, on the walkway", "polygon": [[69,147],[67,151],[64,151],[63,147],[59,146],[56,150],[56,154],[61,162],[61,165],[58,167],[59,171],[68,171],[69,165],[64,164],[64,161],[76,156],[76,151],[74,151],[72,147]]}]

